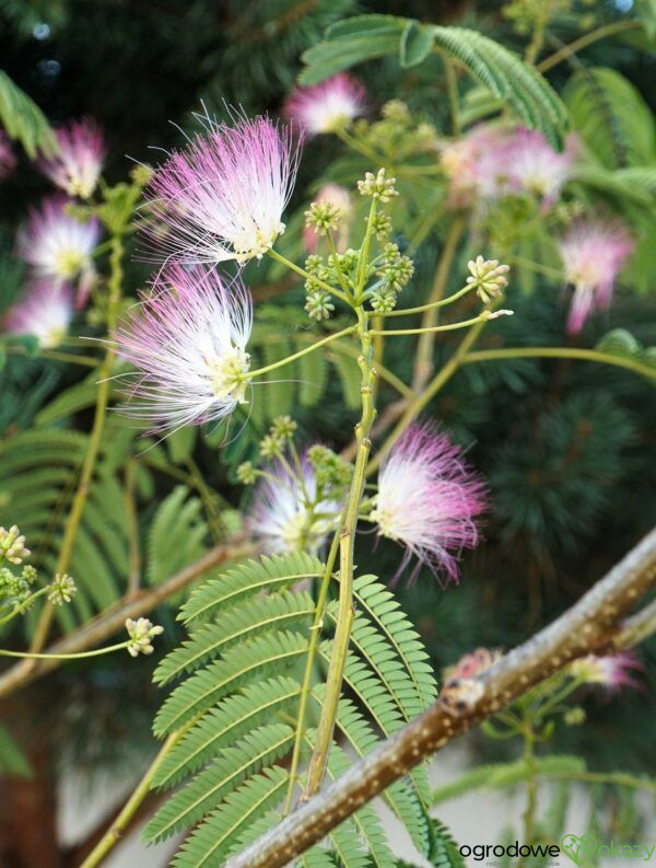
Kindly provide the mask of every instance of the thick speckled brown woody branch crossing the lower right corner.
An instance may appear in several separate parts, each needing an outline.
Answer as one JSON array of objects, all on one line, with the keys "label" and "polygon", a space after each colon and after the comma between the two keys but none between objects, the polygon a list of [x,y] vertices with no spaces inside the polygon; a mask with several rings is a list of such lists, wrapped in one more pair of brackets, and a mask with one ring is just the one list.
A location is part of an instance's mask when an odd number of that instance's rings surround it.
[{"label": "thick speckled brown woody branch crossing the lower right corner", "polygon": [[656,586],[656,530],[633,548],[575,605],[505,655],[476,683],[478,697],[455,713],[441,699],[421,717],[355,763],[324,791],[262,835],[224,868],[279,868],[320,841],[358,808],[426,756],[491,717],[570,661],[632,645],[656,628],[656,604],[623,622]]}]

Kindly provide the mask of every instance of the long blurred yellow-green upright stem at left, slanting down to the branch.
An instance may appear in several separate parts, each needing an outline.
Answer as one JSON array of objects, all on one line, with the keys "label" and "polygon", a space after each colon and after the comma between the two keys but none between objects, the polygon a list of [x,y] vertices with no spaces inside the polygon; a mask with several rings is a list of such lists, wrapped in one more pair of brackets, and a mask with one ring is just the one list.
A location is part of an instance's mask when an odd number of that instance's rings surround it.
[{"label": "long blurred yellow-green upright stem at left, slanting down to the branch", "polygon": [[[118,305],[120,302],[121,282],[122,282],[122,257],[124,246],[120,235],[112,238],[112,254],[109,256],[109,283],[107,294],[107,329],[110,332],[116,322],[118,313]],[[55,566],[55,575],[62,575],[70,566],[71,557],[73,554],[73,546],[78,535],[78,528],[82,519],[82,512],[89,496],[89,487],[93,476],[93,471],[97,456],[101,451],[101,441],[103,439],[103,430],[105,427],[105,414],[107,410],[107,401],[109,397],[109,374],[112,366],[114,364],[115,351],[112,347],[107,349],[105,358],[98,370],[98,391],[96,395],[95,413],[93,419],[93,427],[89,439],[89,447],[82,464],[82,472],[78,482],[78,488],[73,497],[71,511],[69,512],[66,528],[63,531],[63,540],[59,556]],[[48,638],[48,632],[52,622],[55,609],[51,603],[46,603],[40,617],[37,622],[32,644],[30,646],[31,652],[40,651]]]}]

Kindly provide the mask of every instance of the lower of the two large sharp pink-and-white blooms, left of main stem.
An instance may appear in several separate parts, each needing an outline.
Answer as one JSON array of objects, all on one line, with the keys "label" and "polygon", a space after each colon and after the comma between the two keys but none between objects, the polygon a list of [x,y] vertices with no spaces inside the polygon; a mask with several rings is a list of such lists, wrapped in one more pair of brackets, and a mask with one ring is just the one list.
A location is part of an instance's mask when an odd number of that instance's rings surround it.
[{"label": "lower of the two large sharp pink-and-white blooms, left of main stem", "polygon": [[250,293],[215,269],[171,266],[114,332],[118,356],[137,373],[125,415],[152,430],[177,430],[229,416],[246,403],[253,326]]}]

